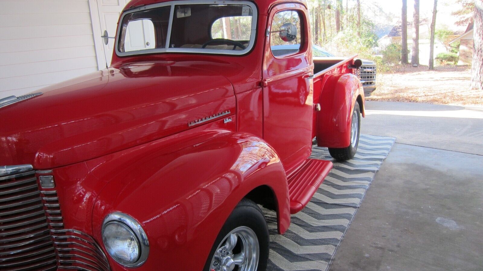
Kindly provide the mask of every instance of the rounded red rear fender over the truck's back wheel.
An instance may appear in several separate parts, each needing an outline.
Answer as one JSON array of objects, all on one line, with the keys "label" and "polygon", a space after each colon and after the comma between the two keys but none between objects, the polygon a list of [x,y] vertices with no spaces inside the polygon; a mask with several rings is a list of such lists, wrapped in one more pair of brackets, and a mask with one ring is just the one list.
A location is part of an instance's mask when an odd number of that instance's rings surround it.
[{"label": "rounded red rear fender over the truck's back wheel", "polygon": [[352,110],[358,102],[364,110],[364,89],[351,73],[327,78],[320,94],[321,111],[317,113],[317,144],[321,147],[345,148],[351,143]]}]

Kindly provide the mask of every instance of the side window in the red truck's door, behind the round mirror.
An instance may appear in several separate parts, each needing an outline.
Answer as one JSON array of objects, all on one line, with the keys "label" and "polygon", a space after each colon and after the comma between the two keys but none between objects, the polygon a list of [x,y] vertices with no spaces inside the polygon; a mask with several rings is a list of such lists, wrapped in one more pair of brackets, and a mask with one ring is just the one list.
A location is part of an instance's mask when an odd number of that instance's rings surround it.
[{"label": "side window in the red truck's door, behind the round mirror", "polygon": [[[294,29],[295,27],[295,29]],[[296,54],[303,44],[301,15],[298,11],[281,11],[273,16],[270,48],[276,57]]]}]

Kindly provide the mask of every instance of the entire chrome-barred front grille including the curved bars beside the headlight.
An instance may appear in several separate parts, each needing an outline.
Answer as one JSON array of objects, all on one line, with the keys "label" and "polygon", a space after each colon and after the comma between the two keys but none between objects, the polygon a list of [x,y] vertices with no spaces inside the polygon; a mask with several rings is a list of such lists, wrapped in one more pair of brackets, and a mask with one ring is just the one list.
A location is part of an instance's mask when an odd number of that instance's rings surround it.
[{"label": "entire chrome-barred front grille including the curved bars beside the headlight", "polygon": [[92,237],[64,229],[57,191],[39,190],[31,166],[21,173],[12,168],[0,167],[0,270],[109,271]]}]

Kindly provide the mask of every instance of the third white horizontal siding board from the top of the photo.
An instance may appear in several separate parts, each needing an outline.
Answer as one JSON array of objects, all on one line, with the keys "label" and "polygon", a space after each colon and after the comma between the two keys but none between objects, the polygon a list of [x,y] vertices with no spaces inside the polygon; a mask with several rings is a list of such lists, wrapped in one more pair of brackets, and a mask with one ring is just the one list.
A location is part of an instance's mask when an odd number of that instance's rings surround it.
[{"label": "third white horizontal siding board from the top of the photo", "polygon": [[81,24],[34,27],[1,27],[0,40],[71,36],[73,33],[76,35],[92,35],[92,26],[91,24]]}]

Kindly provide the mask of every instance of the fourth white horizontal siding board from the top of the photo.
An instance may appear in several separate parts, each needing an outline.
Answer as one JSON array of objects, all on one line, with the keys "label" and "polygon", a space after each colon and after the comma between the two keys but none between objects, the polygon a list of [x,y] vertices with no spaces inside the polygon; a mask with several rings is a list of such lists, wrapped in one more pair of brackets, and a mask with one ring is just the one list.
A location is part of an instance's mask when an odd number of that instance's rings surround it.
[{"label": "fourth white horizontal siding board from the top of the photo", "polygon": [[0,53],[13,53],[78,46],[94,46],[94,39],[92,39],[92,35],[22,39],[22,42],[20,43],[18,40],[3,40],[0,41]]}]

